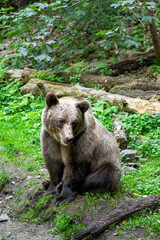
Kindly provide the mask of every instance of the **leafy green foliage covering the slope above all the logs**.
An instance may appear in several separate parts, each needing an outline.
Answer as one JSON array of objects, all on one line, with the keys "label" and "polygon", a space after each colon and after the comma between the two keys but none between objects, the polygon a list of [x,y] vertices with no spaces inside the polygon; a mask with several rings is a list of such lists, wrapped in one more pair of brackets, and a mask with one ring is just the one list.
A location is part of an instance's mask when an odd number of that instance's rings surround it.
[{"label": "leafy green foliage covering the slope above all the logs", "polygon": [[[12,39],[8,47],[17,51],[8,65],[15,68],[29,63],[38,70],[52,68],[57,71],[68,60],[102,60],[110,55],[110,51],[119,52],[120,49],[145,51],[152,45],[150,35],[153,33],[149,32],[148,26],[151,22],[154,22],[155,29],[159,25],[157,2],[30,2],[32,4],[28,1],[28,6],[20,8],[18,13],[12,7],[14,2],[0,10],[0,43],[6,38]],[[3,6],[7,5],[8,1],[3,1]],[[156,52],[157,49],[158,44]],[[114,55],[116,53],[111,56],[111,62]],[[139,62],[142,64],[143,59]],[[107,68],[102,72],[113,74],[113,70]]]}]

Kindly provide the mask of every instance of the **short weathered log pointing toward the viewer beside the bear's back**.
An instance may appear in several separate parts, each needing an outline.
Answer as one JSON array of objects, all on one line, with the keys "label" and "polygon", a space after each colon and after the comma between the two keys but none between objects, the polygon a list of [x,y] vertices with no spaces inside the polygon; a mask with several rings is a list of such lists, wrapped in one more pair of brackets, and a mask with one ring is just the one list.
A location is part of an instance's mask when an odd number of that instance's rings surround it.
[{"label": "short weathered log pointing toward the viewer beside the bear's back", "polygon": [[127,148],[127,134],[123,127],[121,118],[122,118],[122,115],[117,115],[114,118],[113,136],[116,139],[119,148],[126,149]]}]

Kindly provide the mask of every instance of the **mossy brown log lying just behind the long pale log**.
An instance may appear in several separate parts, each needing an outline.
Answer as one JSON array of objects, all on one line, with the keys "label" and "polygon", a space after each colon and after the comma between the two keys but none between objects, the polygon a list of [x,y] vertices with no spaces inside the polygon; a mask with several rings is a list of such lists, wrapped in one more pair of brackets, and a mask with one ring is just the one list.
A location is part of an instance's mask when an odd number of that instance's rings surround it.
[{"label": "mossy brown log lying just behind the long pale log", "polygon": [[[36,72],[35,69],[24,68],[24,69],[9,69],[8,78],[17,79],[19,78],[21,82],[26,84],[31,79],[31,74]],[[70,84],[70,76],[72,73],[59,72],[57,76],[63,78],[63,82]],[[130,94],[136,98],[140,97],[142,99],[149,100],[153,96],[157,96],[159,99],[160,94],[160,82],[150,81],[148,78],[134,79],[130,77],[110,77],[110,76],[96,76],[87,73],[83,73],[78,80],[79,83],[83,84],[85,87],[98,87],[104,89],[107,92],[119,92],[122,91],[122,95]],[[132,92],[132,93],[131,93]],[[118,93],[119,94],[119,93]],[[121,94],[121,93],[120,93]],[[131,96],[130,96],[131,97]]]}]

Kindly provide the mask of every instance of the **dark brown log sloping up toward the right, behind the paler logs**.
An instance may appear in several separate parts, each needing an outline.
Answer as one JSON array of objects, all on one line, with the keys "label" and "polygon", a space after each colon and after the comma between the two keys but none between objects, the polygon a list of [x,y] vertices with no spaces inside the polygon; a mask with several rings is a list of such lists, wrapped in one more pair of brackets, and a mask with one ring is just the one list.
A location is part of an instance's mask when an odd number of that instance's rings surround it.
[{"label": "dark brown log sloping up toward the right, behind the paler logs", "polygon": [[107,67],[98,68],[93,71],[92,74],[99,75],[105,69],[112,69],[113,72],[111,73],[111,76],[118,76],[126,71],[131,72],[132,70],[137,70],[142,66],[150,66],[154,63],[155,58],[154,50],[151,50],[138,55],[133,55],[125,60],[110,64]]}]

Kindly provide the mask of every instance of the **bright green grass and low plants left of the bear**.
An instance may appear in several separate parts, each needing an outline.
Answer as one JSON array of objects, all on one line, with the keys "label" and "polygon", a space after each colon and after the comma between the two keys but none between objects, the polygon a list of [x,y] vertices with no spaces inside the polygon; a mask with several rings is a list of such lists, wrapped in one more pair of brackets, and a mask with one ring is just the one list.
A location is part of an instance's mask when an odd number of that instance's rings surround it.
[{"label": "bright green grass and low plants left of the bear", "polygon": [[[36,170],[42,165],[40,147],[43,97],[21,96],[20,83],[9,80],[0,90],[0,151],[5,161]],[[19,106],[19,107],[18,107]]]}]

